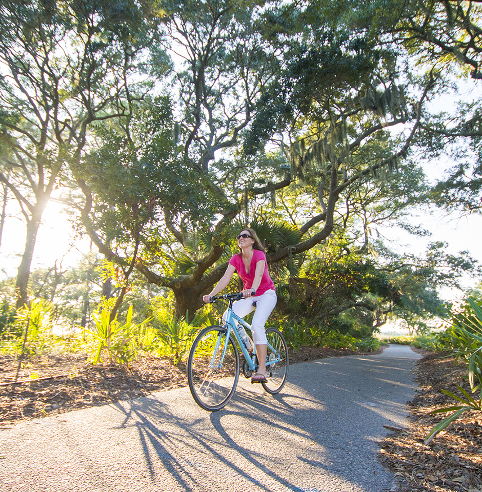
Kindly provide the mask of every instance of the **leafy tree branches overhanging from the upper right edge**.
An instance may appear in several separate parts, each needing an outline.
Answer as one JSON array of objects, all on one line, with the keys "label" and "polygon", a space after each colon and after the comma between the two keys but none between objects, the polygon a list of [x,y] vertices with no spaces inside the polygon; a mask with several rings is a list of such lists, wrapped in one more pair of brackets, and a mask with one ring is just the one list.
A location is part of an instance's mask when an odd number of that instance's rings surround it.
[{"label": "leafy tree branches overhanging from the upper right edge", "polygon": [[[272,17],[277,32],[292,29],[295,3],[287,5],[285,16]],[[441,156],[453,161],[433,188],[430,200],[449,211],[465,213],[478,213],[482,199],[482,120],[477,97],[482,79],[481,14],[478,0],[373,0],[364,4],[347,0],[337,2],[336,8],[328,2],[312,0],[304,13],[306,25],[341,23],[351,32],[365,32],[366,38],[377,46],[405,56],[402,75],[408,84],[412,77],[426,74],[437,84],[433,96],[447,94],[456,100],[459,91],[470,93],[457,102],[452,112],[444,103],[433,112],[422,111],[419,138],[413,141],[413,147],[419,148],[419,159],[425,159],[428,166],[430,159]],[[356,73],[358,67],[353,68]]]}]

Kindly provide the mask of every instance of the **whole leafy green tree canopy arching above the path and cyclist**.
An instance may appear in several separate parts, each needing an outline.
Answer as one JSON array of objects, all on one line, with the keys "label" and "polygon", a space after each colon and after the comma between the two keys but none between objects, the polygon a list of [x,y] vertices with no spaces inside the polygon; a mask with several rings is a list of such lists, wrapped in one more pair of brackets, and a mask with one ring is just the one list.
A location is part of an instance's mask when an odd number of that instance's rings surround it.
[{"label": "whole leafy green tree canopy arching above the path and cyclist", "polygon": [[457,50],[477,61],[478,17],[429,7],[7,2],[0,180],[36,213],[29,248],[61,185],[123,292],[136,269],[193,315],[248,224],[279,284],[333,235],[365,258],[381,224],[423,234],[406,220],[429,200],[420,155],[455,137],[477,150],[479,131],[478,101],[450,125],[427,105]]}]

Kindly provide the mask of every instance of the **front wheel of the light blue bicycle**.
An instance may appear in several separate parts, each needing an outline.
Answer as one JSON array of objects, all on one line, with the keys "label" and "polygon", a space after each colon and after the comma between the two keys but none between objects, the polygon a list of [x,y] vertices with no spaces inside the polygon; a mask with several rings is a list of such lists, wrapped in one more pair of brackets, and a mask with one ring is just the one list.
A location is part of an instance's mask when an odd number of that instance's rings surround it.
[{"label": "front wheel of the light blue bicycle", "polygon": [[239,378],[239,354],[222,326],[208,326],[194,340],[188,358],[188,382],[195,402],[213,412],[232,398]]}]

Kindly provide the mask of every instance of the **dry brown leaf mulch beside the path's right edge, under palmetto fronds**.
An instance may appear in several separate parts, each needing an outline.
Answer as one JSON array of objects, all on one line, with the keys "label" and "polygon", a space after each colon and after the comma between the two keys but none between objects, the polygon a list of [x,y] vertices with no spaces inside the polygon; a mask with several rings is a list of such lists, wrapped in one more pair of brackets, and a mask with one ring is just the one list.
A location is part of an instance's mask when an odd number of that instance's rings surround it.
[{"label": "dry brown leaf mulch beside the path's right edge, under palmetto fronds", "polygon": [[[380,461],[402,480],[403,492],[481,492],[482,414],[463,414],[425,445],[430,430],[449,414],[431,414],[456,401],[442,389],[463,397],[457,385],[470,394],[466,366],[448,354],[428,354],[417,362],[420,389],[412,402],[407,429],[380,443]],[[474,395],[476,396],[476,395]]]}]

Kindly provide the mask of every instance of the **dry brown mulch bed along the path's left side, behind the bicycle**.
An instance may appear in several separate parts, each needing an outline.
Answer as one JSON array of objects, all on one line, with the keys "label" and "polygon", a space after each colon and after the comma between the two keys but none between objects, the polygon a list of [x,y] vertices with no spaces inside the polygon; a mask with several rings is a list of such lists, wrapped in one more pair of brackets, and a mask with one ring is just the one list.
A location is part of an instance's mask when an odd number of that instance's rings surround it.
[{"label": "dry brown mulch bed along the path's left side, behind the bicycle", "polygon": [[[290,363],[353,354],[315,347],[300,347],[289,353]],[[0,426],[6,421],[130,400],[187,384],[185,366],[156,357],[118,368],[93,366],[86,357],[45,356],[19,365],[13,357],[0,356]]]}]

